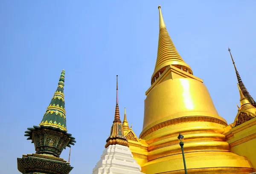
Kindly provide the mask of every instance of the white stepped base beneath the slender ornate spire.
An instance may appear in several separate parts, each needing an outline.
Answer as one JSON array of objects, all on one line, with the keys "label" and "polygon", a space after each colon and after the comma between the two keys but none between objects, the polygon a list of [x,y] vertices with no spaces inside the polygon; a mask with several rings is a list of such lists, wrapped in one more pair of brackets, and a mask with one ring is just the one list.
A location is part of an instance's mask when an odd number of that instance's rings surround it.
[{"label": "white stepped base beneath the slender ornate spire", "polygon": [[109,145],[93,168],[93,174],[143,174],[140,165],[125,145]]}]

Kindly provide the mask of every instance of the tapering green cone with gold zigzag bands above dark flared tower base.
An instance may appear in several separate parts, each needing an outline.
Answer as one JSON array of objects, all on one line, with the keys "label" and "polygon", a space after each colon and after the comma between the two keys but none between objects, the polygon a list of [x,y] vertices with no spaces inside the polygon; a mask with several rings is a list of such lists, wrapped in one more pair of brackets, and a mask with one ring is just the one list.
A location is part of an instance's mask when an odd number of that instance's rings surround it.
[{"label": "tapering green cone with gold zigzag bands above dark flared tower base", "polygon": [[52,97],[52,101],[47,107],[47,110],[39,126],[50,126],[54,128],[60,128],[63,131],[67,131],[65,101],[63,93],[64,80],[65,71],[62,70],[58,88],[55,91]]}]

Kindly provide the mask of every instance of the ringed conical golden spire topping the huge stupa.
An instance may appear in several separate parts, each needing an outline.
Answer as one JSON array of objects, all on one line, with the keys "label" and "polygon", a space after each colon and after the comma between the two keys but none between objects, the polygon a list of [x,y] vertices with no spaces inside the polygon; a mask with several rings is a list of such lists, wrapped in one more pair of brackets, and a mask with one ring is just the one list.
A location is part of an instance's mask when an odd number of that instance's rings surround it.
[{"label": "ringed conical golden spire topping the huge stupa", "polygon": [[180,68],[183,71],[192,74],[191,68],[180,57],[180,54],[172,43],[171,37],[166,30],[161,7],[158,6],[158,9],[160,31],[158,40],[157,62],[151,79],[153,79],[154,76],[157,76],[158,71],[161,71],[162,68],[168,65],[176,66],[177,68]]}]

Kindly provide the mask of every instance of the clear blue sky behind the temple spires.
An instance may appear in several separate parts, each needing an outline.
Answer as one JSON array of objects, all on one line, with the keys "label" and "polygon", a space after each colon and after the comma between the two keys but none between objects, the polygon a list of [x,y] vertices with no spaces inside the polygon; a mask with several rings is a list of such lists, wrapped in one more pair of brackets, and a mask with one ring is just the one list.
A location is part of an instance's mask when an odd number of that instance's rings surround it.
[{"label": "clear blue sky behind the temple spires", "polygon": [[[65,76],[67,129],[76,137],[70,174],[90,174],[119,108],[139,136],[145,91],[157,57],[161,5],[177,51],[204,80],[218,113],[233,123],[239,103],[228,46],[256,100],[256,1],[0,1],[1,173],[35,152],[26,128],[38,125]],[[69,148],[61,157],[68,160]]]}]

